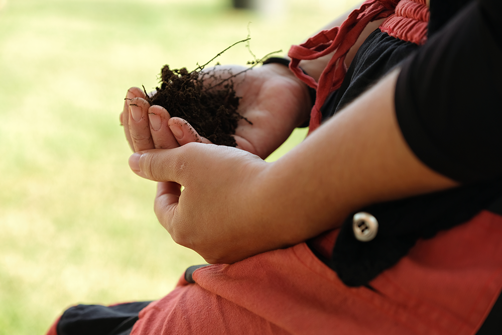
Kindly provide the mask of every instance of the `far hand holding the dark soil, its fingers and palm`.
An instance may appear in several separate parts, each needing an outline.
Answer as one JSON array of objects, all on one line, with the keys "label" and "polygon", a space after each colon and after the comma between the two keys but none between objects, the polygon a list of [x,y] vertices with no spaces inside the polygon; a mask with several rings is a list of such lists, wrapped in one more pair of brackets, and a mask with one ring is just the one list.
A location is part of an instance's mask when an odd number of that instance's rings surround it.
[{"label": "far hand holding the dark soil, its fingers and palm", "polygon": [[[216,67],[223,78],[230,75],[229,71],[235,74],[244,69],[240,66]],[[253,123],[249,125],[244,120],[239,121],[235,132],[237,148],[266,158],[288,138],[294,128],[308,119],[311,101],[307,88],[284,65],[263,65],[241,73],[232,80],[237,96],[242,97],[238,111]],[[120,115],[133,151],[175,146],[173,138],[164,134],[167,128],[179,136],[179,144],[194,141],[209,143],[184,120],[170,120],[168,111],[160,106],[150,107],[144,98],[145,93],[141,89],[131,88]],[[132,118],[133,112],[138,116],[138,121]],[[159,118],[162,122],[161,128],[157,130],[152,125],[159,125]]]}]

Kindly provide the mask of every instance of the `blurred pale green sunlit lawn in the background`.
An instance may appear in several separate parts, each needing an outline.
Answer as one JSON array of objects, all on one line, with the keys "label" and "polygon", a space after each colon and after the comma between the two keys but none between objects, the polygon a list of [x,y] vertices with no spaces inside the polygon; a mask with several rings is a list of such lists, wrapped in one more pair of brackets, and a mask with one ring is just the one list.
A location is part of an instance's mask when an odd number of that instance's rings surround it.
[{"label": "blurred pale green sunlit lawn in the background", "polygon": [[[166,63],[205,63],[248,22],[257,56],[286,53],[353,3],[284,0],[272,17],[229,0],[0,0],[0,334],[42,334],[78,302],[157,299],[203,262],[172,242],[154,183],[129,170],[128,87],[155,87]],[[218,61],[250,59],[240,45]]]}]

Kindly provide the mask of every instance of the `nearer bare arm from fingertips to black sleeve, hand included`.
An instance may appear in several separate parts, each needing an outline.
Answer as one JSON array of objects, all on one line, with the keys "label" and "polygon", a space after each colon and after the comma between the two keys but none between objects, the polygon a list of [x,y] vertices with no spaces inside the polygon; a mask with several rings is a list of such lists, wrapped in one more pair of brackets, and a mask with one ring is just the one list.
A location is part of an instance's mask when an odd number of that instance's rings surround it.
[{"label": "nearer bare arm from fingertips to black sleeve, hand included", "polygon": [[394,109],[398,75],[393,71],[273,163],[190,143],[136,153],[129,164],[163,182],[155,200],[159,221],[209,263],[300,243],[368,204],[458,185],[405,142]]}]

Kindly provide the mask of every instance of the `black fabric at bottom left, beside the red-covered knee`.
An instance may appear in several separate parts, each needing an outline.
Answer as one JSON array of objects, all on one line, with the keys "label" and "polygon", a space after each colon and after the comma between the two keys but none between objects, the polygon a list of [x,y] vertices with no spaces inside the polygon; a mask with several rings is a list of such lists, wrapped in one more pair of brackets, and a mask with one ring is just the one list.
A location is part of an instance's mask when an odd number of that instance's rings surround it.
[{"label": "black fabric at bottom left, beside the red-covered knee", "polygon": [[73,306],[63,313],[56,331],[58,335],[129,335],[139,312],[149,303]]}]

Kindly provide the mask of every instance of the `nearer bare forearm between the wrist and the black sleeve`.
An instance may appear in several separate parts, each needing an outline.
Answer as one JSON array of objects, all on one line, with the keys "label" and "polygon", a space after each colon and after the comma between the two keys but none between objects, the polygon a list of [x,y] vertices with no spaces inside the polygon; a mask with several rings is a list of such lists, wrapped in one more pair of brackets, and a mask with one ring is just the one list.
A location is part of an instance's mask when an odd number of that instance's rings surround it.
[{"label": "nearer bare forearm between the wrist and the black sleeve", "polygon": [[394,110],[397,74],[263,172],[261,203],[286,244],[336,228],[364,205],[457,185],[424,165],[404,141]]}]

